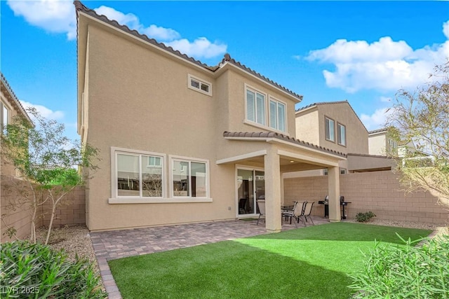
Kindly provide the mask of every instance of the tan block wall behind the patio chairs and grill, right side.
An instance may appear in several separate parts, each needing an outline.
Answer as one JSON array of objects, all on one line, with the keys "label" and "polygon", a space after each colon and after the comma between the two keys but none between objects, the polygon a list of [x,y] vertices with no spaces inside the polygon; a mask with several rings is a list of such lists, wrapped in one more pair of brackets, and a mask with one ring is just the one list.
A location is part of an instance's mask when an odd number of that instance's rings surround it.
[{"label": "tan block wall behind the patio chairs and grill, right side", "polygon": [[[284,179],[284,203],[314,201],[312,215],[324,215],[318,204],[328,194],[328,176]],[[417,221],[447,225],[449,211],[436,204],[429,192],[405,193],[398,175],[391,171],[361,172],[340,175],[340,195],[346,202],[347,217],[355,219],[359,212],[373,211],[383,220]]]}]

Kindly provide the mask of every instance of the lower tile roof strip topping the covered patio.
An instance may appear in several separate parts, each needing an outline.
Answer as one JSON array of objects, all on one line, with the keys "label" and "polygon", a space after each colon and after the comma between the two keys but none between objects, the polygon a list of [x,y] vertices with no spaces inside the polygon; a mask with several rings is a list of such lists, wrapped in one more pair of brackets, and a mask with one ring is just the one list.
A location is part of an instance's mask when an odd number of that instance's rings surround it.
[{"label": "lower tile roof strip topping the covered patio", "polygon": [[340,153],[339,151],[334,151],[329,148],[323,148],[323,146],[316,146],[315,144],[311,144],[306,141],[298,140],[293,137],[289,137],[287,135],[276,133],[276,132],[223,132],[223,137],[241,137],[241,138],[274,138],[282,141],[288,141],[295,145],[306,146],[308,148],[313,148],[318,151],[322,151],[323,153],[332,153],[334,155],[340,155],[344,158],[347,157],[346,154]]}]

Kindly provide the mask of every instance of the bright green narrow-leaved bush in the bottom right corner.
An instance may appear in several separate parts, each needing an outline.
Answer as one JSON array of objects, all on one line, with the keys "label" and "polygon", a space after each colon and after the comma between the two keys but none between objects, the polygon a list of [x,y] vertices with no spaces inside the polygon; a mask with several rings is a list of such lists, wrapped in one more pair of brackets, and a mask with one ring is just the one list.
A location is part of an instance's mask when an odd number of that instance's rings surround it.
[{"label": "bright green narrow-leaved bush in the bottom right corner", "polygon": [[449,236],[422,246],[403,242],[406,246],[377,243],[366,254],[364,269],[350,275],[354,298],[449,298]]}]

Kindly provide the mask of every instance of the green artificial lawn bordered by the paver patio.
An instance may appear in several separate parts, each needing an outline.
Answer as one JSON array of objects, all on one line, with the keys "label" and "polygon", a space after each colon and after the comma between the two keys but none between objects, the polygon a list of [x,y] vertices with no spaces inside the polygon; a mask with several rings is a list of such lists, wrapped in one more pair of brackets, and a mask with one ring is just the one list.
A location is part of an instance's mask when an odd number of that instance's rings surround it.
[{"label": "green artificial lawn bordered by the paver patio", "polygon": [[329,223],[110,260],[123,299],[349,298],[347,274],[375,240],[402,244],[431,230]]}]

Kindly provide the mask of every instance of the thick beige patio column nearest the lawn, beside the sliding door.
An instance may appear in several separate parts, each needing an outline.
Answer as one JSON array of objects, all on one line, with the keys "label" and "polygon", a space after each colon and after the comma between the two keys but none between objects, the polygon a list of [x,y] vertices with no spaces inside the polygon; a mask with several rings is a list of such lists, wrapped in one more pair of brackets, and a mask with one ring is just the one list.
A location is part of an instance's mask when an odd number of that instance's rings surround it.
[{"label": "thick beige patio column nearest the lawn, beside the sliding door", "polygon": [[267,232],[281,231],[281,167],[279,155],[271,146],[264,155],[265,164],[265,228]]}]

